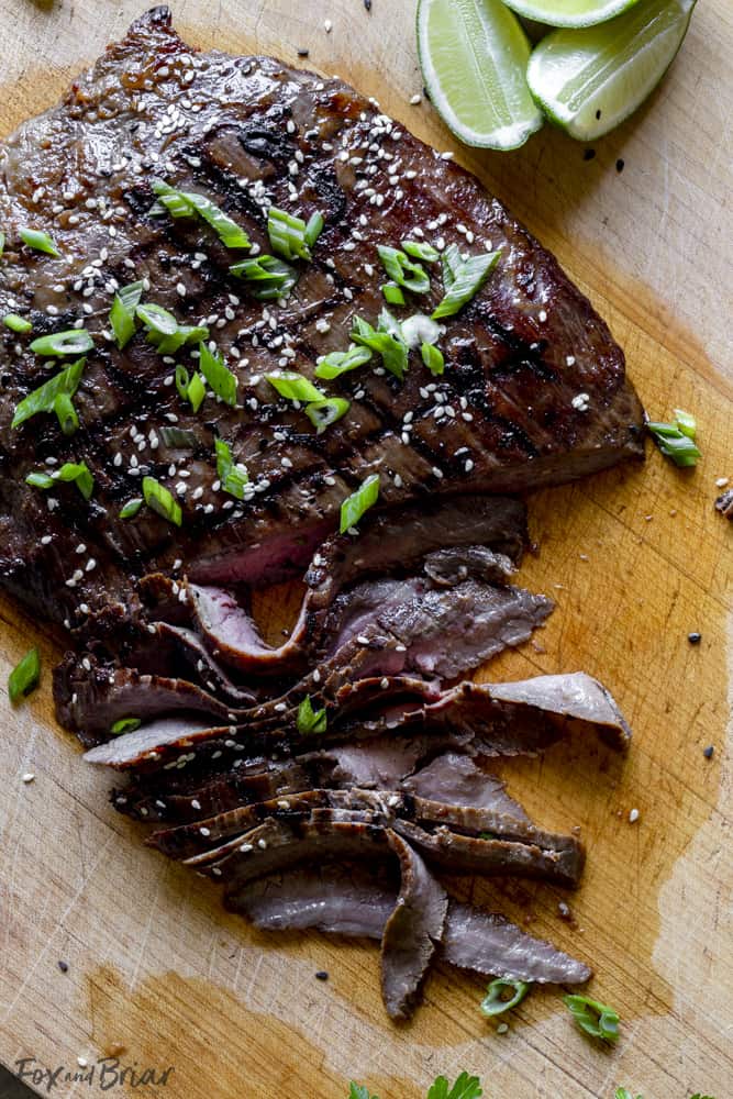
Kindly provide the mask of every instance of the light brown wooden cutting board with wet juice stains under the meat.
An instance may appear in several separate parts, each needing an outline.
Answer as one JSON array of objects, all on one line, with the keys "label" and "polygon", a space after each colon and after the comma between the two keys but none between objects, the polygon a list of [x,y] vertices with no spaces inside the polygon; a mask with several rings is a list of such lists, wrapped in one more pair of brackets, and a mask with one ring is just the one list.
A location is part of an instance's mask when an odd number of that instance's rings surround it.
[{"label": "light brown wooden cutting board with wet juice stains under the meat", "polygon": [[[0,0],[0,129],[54,102],[140,10],[140,0]],[[536,820],[582,829],[589,861],[567,898],[574,924],[558,917],[560,892],[543,885],[457,886],[587,958],[592,992],[622,1015],[622,1039],[613,1051],[585,1040],[556,990],[534,992],[499,1035],[478,1010],[482,983],[440,967],[414,1021],[397,1028],[381,1007],[374,945],[268,937],[223,913],[213,887],[142,846],[141,830],[108,804],[109,777],[56,728],[58,650],[43,634],[43,687],[11,711],[7,673],[40,633],[0,602],[0,1061],[73,1072],[78,1056],[116,1053],[138,1070],[174,1067],[165,1087],[62,1083],[52,1094],[64,1099],[343,1099],[352,1078],[381,1099],[420,1099],[435,1075],[464,1068],[491,1099],[611,1099],[620,1085],[645,1099],[726,1099],[733,586],[731,526],[713,499],[715,479],[733,478],[729,0],[698,5],[663,87],[588,162],[549,127],[518,153],[474,154],[425,101],[410,106],[421,90],[412,0],[374,0],[370,14],[362,0],[180,0],[175,15],[197,46],[292,63],[309,48],[311,66],[455,148],[609,320],[649,412],[677,406],[698,418],[695,473],[652,452],[644,468],[530,501],[540,553],[522,581],[555,597],[557,611],[541,643],[496,662],[491,677],[586,669],[613,690],[635,734],[625,762],[569,743],[504,767]],[[275,630],[293,608],[282,589],[259,611]]]}]

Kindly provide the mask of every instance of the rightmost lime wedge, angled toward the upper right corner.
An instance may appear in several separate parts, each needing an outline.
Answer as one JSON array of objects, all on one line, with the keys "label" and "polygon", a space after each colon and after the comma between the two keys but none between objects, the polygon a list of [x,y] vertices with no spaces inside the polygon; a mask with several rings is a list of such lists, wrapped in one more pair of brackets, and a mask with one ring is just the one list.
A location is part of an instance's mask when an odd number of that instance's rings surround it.
[{"label": "rightmost lime wedge, angled toward the upper right corner", "polygon": [[696,0],[638,0],[609,23],[553,31],[526,73],[545,113],[578,141],[628,119],[671,65]]}]

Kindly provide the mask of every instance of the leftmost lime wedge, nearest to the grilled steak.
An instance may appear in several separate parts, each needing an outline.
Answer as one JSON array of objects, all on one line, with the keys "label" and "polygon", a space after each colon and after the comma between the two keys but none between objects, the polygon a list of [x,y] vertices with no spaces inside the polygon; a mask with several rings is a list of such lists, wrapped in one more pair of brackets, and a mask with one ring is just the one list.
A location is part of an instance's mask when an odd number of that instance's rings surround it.
[{"label": "leftmost lime wedge, nearest to the grilled steak", "polygon": [[501,0],[420,0],[418,53],[425,87],[466,145],[518,148],[542,126],[526,85],[530,43]]}]

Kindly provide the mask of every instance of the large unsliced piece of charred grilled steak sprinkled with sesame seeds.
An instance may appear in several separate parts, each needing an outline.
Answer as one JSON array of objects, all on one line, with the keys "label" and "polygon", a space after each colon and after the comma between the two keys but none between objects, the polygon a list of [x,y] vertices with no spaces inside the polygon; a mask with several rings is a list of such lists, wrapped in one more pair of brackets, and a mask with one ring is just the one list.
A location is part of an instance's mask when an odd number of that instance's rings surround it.
[{"label": "large unsliced piece of charred grilled steak sprinkled with sesame seeds", "polygon": [[[538,488],[643,455],[623,354],[556,260],[467,171],[340,80],[197,54],[155,8],[4,142],[0,167],[0,313],[27,314],[33,336],[81,322],[93,340],[74,397],[80,426],[66,436],[47,414],[11,428],[20,401],[58,370],[29,337],[0,337],[0,584],[43,618],[81,632],[123,623],[136,578],[156,570],[213,585],[300,571],[371,473],[380,507],[402,508]],[[160,217],[159,177],[216,203],[260,254],[270,204],[322,213],[290,296],[254,300],[230,271],[247,252],[201,220]],[[27,225],[60,256],[21,244]],[[377,247],[409,236],[438,251],[490,247],[499,260],[445,320],[443,375],[413,353],[400,381],[375,358],[326,385],[351,407],[319,435],[265,375],[312,377],[319,356],[346,349],[355,317],[376,323]],[[406,315],[443,296],[429,266],[430,291]],[[137,279],[179,323],[206,323],[236,376],[235,407],[207,398],[195,413],[143,331],[123,351],[107,338],[116,289]],[[179,356],[190,370],[195,351]],[[216,437],[247,467],[242,500],[222,487]],[[95,478],[89,502],[74,485],[25,484],[38,467],[80,460]],[[146,475],[178,500],[180,530],[149,508],[120,518]]]}]

